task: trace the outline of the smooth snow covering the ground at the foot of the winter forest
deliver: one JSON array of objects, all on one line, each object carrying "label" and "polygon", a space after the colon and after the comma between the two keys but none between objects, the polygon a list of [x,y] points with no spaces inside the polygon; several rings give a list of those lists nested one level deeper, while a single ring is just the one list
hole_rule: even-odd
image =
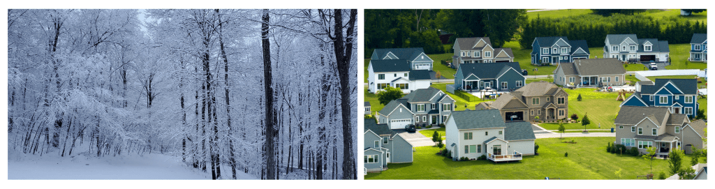
[{"label": "smooth snow covering the ground at the foot of the winter forest", "polygon": [[[210,170],[204,173],[187,166],[174,156],[157,153],[97,158],[86,155],[59,157],[54,152],[40,156],[8,150],[7,169],[8,179],[211,179]],[[231,177],[230,169],[222,170],[225,178]],[[240,172],[239,179],[256,178]]]}]

